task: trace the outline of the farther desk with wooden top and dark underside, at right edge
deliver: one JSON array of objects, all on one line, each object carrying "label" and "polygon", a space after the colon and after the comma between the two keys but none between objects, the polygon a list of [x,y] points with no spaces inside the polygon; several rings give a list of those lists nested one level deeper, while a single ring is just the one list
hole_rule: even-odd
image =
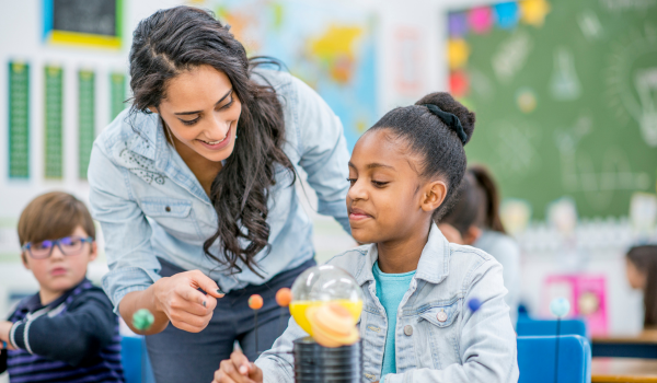
[{"label": "farther desk with wooden top and dark underside, at right edge", "polygon": [[657,359],[657,330],[644,330],[635,336],[593,337],[591,356],[613,358]]}]

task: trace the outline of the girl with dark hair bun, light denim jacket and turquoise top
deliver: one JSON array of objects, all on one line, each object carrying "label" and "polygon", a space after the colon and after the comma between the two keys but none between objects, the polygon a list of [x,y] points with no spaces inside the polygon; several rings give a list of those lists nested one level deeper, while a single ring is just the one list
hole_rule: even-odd
[{"label": "girl with dark hair bun, light denim jacket and turquoise top", "polygon": [[[474,114],[447,93],[388,113],[356,143],[347,209],[356,241],[328,263],[349,271],[365,302],[359,330],[369,382],[516,382],[516,334],[502,266],[450,244],[440,219],[465,173]],[[468,302],[479,299],[476,312]],[[270,352],[221,362],[215,382],[293,382],[295,323]]]}]

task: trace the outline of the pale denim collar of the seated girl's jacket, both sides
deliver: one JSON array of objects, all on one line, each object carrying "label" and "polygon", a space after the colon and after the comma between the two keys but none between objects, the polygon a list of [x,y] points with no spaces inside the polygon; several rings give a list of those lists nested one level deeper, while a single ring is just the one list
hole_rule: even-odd
[{"label": "pale denim collar of the seated girl's jacket, both sides", "polygon": [[[427,244],[422,251],[415,278],[430,283],[440,283],[449,274],[449,242],[445,239],[436,223],[431,223]],[[371,244],[364,257],[364,265],[356,278],[359,286],[373,281],[372,266],[379,258],[377,244]]]}]

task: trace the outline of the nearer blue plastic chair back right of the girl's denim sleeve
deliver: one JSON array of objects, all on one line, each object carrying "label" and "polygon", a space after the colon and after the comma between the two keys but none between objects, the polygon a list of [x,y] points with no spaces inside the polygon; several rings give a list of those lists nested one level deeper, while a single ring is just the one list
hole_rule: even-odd
[{"label": "nearer blue plastic chair back right of the girl's denim sleeve", "polygon": [[[554,383],[555,336],[518,337],[518,383]],[[579,335],[558,337],[557,383],[590,383],[591,347]]]}]

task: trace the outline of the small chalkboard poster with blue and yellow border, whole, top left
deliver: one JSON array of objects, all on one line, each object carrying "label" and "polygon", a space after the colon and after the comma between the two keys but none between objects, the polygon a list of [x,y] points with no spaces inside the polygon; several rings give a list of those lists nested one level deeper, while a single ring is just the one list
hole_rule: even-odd
[{"label": "small chalkboard poster with blue and yellow border, whole, top left", "polygon": [[43,0],[46,44],[118,49],[124,0]]}]

